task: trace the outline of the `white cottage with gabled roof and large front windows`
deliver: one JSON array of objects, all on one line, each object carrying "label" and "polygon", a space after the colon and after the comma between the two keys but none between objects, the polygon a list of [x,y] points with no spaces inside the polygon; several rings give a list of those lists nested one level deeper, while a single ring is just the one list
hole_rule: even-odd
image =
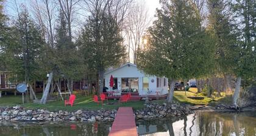
[{"label": "white cottage with gabled roof and large front windows", "polygon": [[[168,79],[146,75],[137,69],[135,64],[127,63],[123,66],[104,73],[104,85],[109,86],[110,77],[113,76],[115,95],[132,92],[138,95],[165,95],[168,94]],[[130,89],[129,89],[130,88]]]}]

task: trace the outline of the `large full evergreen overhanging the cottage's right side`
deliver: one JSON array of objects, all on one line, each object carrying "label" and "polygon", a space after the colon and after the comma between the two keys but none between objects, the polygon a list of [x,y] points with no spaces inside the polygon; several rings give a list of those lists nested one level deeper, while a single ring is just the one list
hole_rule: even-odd
[{"label": "large full evergreen overhanging the cottage's right side", "polygon": [[161,4],[157,20],[148,30],[148,47],[140,53],[138,67],[149,75],[169,78],[171,103],[176,80],[208,73],[212,47],[191,1],[165,0]]}]

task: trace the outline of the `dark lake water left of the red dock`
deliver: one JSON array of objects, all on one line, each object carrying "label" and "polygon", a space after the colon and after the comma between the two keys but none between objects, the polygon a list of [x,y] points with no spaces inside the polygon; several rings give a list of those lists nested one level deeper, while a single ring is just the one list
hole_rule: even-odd
[{"label": "dark lake water left of the red dock", "polygon": [[110,124],[105,123],[0,123],[1,136],[68,136],[107,135]]}]

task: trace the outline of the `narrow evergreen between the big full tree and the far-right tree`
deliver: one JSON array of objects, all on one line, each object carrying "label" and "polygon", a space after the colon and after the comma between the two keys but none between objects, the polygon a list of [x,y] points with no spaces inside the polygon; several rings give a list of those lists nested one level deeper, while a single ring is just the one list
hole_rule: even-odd
[{"label": "narrow evergreen between the big full tree and the far-right tree", "polygon": [[[214,46],[216,46],[215,53],[215,74],[217,76],[232,74],[232,66],[234,65],[233,54],[236,38],[233,33],[231,13],[229,2],[223,0],[208,0],[208,26],[207,32],[212,36]],[[219,84],[217,85],[219,86]],[[227,85],[226,85],[227,86]],[[209,87],[208,87],[209,89]],[[210,97],[210,93],[207,93]],[[218,89],[218,96],[220,90]]]}]

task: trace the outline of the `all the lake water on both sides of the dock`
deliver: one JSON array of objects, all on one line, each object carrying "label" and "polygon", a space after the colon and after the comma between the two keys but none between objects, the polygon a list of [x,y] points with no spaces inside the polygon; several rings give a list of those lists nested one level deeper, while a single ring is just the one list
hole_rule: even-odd
[{"label": "all the lake water on both sides of the dock", "polygon": [[[0,135],[107,135],[111,123],[0,123]],[[256,136],[256,112],[199,112],[185,118],[137,121],[140,135]]]}]

